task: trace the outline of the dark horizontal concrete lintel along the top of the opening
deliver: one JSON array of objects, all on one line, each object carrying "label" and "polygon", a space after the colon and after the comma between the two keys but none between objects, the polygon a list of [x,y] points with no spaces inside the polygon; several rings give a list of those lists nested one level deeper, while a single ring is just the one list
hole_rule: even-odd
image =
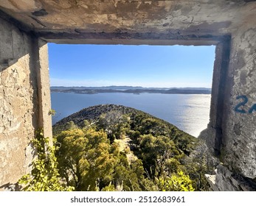
[{"label": "dark horizontal concrete lintel along the top of the opening", "polygon": [[52,43],[86,43],[86,44],[148,44],[148,45],[194,45],[209,46],[219,42],[229,41],[230,35],[193,35],[168,33],[68,33],[68,32],[38,32],[38,37]]}]

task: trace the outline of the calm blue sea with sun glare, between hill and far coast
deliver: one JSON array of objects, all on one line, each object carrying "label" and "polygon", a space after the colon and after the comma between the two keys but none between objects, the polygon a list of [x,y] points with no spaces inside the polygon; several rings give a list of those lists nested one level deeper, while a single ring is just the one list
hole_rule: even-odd
[{"label": "calm blue sea with sun glare, between hill and far coast", "polygon": [[97,104],[121,104],[162,118],[193,136],[207,127],[210,115],[210,94],[162,93],[51,93],[52,122]]}]

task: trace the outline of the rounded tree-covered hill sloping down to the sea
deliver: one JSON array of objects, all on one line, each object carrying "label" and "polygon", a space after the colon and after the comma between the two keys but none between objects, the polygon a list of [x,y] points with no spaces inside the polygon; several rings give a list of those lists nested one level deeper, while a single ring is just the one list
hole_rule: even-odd
[{"label": "rounded tree-covered hill sloping down to the sea", "polygon": [[88,107],[53,126],[58,171],[75,191],[207,191],[204,142],[148,113]]}]

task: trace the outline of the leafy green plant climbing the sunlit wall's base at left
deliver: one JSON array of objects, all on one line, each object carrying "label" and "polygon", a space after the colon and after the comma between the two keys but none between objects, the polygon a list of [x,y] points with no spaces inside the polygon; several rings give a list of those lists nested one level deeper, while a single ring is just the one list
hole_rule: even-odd
[{"label": "leafy green plant climbing the sunlit wall's base at left", "polygon": [[32,141],[37,150],[37,158],[32,163],[31,174],[26,174],[18,181],[22,191],[72,191],[60,179],[55,157],[55,147],[49,146],[49,138],[44,138],[39,131]]}]

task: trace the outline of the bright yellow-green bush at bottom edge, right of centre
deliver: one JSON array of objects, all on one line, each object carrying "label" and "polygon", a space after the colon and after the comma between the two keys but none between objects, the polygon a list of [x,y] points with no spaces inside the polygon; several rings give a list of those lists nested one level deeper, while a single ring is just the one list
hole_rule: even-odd
[{"label": "bright yellow-green bush at bottom edge, right of centre", "polygon": [[172,174],[170,177],[156,180],[160,191],[194,191],[192,181],[183,171],[178,171],[177,174]]}]

